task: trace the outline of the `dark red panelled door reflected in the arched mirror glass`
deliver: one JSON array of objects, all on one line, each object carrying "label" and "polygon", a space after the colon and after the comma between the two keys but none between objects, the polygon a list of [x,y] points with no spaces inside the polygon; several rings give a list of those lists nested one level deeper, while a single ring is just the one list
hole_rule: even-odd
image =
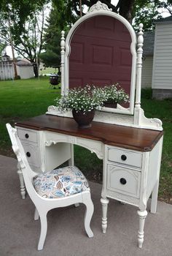
[{"label": "dark red panelled door reflected in the arched mirror glass", "polygon": [[[130,45],[130,32],[114,17],[97,15],[83,21],[71,37],[69,87],[119,83],[130,96]],[[126,102],[120,105],[125,109],[130,106]],[[106,105],[106,108],[114,107]]]}]

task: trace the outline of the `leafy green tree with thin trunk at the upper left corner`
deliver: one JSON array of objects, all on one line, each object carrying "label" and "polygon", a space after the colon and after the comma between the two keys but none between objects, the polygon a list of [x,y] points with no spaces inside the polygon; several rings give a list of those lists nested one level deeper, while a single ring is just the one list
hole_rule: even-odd
[{"label": "leafy green tree with thin trunk at the upper left corner", "polygon": [[[1,40],[13,48],[31,63],[39,62],[37,56],[42,50],[44,29],[44,4],[40,1],[3,1],[0,6]],[[37,64],[34,74],[38,76]]]}]

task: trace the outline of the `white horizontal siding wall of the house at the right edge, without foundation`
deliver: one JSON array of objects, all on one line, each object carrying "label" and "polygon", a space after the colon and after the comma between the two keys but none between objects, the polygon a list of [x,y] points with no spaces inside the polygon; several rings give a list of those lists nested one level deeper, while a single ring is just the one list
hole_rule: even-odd
[{"label": "white horizontal siding wall of the house at the right edge, without foundation", "polygon": [[172,23],[156,25],[152,89],[172,89]]}]

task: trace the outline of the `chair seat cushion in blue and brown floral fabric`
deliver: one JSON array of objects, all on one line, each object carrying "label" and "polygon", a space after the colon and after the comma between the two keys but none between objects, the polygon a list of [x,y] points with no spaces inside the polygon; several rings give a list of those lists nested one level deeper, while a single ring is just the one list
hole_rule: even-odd
[{"label": "chair seat cushion in blue and brown floral fabric", "polygon": [[47,198],[58,198],[90,191],[87,179],[75,166],[62,167],[34,177],[36,192]]}]

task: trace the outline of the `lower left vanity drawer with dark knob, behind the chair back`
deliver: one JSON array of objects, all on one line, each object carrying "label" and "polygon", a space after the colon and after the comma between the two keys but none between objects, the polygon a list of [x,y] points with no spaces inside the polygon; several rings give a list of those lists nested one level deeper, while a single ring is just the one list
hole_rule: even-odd
[{"label": "lower left vanity drawer with dark knob, behind the chair back", "polygon": [[28,143],[22,143],[29,165],[40,167],[39,148]]}]

